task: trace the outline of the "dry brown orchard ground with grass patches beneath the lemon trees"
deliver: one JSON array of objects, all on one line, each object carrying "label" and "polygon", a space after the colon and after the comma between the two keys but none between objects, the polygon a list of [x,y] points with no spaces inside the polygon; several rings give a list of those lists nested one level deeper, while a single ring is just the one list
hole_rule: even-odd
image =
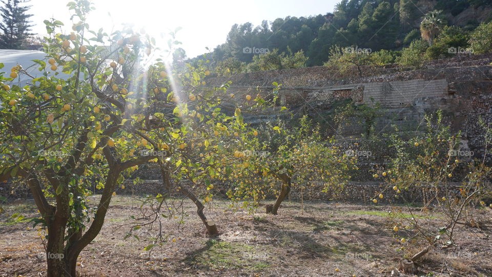
[{"label": "dry brown orchard ground with grass patches beneath the lemon trees", "polygon": [[[92,196],[91,203],[97,200]],[[213,203],[206,214],[217,222],[217,238],[204,234],[193,204],[185,202],[184,224],[179,216],[162,218],[167,243],[149,252],[143,248],[155,229],[140,229],[138,241],[124,240],[129,228],[121,227],[139,214],[140,202],[114,197],[103,230],[81,253],[78,271],[82,276],[389,276],[405,253],[420,247],[400,242],[405,231],[392,230],[386,206],[310,202],[302,211],[300,203],[285,202],[279,215],[267,215],[261,207],[257,213],[224,212],[227,202]],[[28,222],[37,216],[33,202],[4,208],[26,219],[0,215],[0,276],[45,276],[43,244]],[[492,276],[492,210],[477,213],[488,220],[485,229],[460,227],[458,246],[429,252],[418,264],[419,275]]]}]

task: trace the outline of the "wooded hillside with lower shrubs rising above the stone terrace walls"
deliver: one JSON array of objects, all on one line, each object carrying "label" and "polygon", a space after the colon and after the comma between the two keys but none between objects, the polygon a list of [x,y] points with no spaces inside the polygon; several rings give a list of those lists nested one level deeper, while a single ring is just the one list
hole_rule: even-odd
[{"label": "wooded hillside with lower shrubs rising above the stone terrace walls", "polygon": [[[228,75],[323,65],[330,60],[333,46],[372,53],[398,51],[420,39],[420,24],[430,11],[442,11],[443,26],[454,26],[454,33],[466,36],[492,19],[491,5],[490,0],[343,0],[333,13],[287,16],[263,21],[260,26],[235,24],[226,42],[207,54],[207,59],[218,74]],[[457,40],[455,47],[467,46],[467,37]],[[264,53],[261,60],[259,55]],[[400,54],[391,55],[395,60]]]}]

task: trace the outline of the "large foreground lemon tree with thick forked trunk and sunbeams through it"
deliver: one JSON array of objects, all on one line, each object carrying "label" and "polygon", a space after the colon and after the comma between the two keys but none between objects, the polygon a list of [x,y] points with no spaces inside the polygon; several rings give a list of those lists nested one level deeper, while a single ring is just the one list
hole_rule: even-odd
[{"label": "large foreground lemon tree with thick forked trunk and sunbeams through it", "polygon": [[[217,124],[224,137],[247,128],[240,109],[221,102],[227,86],[207,88],[204,65],[182,72],[160,60],[146,66],[154,39],[92,31],[85,22],[92,4],[68,7],[70,33],[45,21],[48,55],[34,61],[42,76],[19,87],[16,78],[30,76],[22,67],[0,73],[0,180],[28,184],[40,213],[35,224],[46,231],[49,276],[76,275],[77,257],[99,234],[115,188],[139,165],[158,163],[170,173],[165,182],[186,176],[207,186],[222,161]],[[93,206],[86,198],[94,180],[102,193]]]}]

